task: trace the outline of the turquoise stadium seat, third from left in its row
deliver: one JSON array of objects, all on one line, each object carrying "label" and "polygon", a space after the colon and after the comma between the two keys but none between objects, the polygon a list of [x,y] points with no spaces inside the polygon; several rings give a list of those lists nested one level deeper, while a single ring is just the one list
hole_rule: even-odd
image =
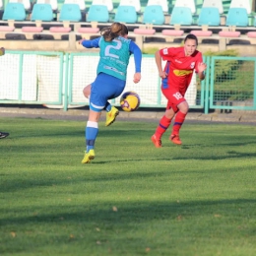
[{"label": "turquoise stadium seat, third from left in its row", "polygon": [[78,4],[63,4],[60,10],[60,22],[80,22],[82,15]]}]

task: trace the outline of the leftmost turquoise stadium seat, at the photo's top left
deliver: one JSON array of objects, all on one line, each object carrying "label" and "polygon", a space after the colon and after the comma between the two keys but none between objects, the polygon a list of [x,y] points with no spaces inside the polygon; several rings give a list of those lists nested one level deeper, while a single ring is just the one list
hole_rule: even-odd
[{"label": "leftmost turquoise stadium seat, at the photo's top left", "polygon": [[3,20],[8,21],[25,21],[26,19],[26,10],[24,4],[21,3],[7,3],[4,14]]}]

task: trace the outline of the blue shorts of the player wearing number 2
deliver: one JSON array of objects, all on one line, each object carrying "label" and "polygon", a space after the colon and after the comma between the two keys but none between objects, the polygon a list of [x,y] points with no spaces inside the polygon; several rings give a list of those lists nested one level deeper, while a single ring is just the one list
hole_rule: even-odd
[{"label": "blue shorts of the player wearing number 2", "polygon": [[107,75],[99,73],[95,82],[92,84],[90,96],[90,109],[100,112],[108,99],[120,96],[125,88],[126,82]]}]

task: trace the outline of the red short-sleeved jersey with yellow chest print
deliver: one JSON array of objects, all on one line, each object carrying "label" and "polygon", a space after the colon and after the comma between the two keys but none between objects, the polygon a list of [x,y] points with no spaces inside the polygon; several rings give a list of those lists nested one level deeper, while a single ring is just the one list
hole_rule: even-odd
[{"label": "red short-sleeved jersey with yellow chest print", "polygon": [[193,71],[198,72],[198,64],[203,62],[202,53],[196,50],[186,56],[184,47],[169,47],[160,49],[160,56],[167,61],[164,67],[167,77],[162,79],[162,89],[171,89],[184,96]]}]

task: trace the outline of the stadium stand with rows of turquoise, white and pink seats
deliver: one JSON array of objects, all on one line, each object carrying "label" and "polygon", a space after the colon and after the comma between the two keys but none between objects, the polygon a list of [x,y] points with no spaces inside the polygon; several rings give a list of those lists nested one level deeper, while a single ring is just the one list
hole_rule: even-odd
[{"label": "stadium stand with rows of turquoise, white and pink seats", "polygon": [[[64,41],[71,40],[70,38],[74,38],[74,35],[91,38],[98,36],[99,31],[112,22],[122,22],[128,26],[129,37],[136,40],[141,47],[148,47],[150,44],[178,43],[188,32],[195,33],[201,44],[210,43],[209,45],[212,46],[211,43],[213,43],[214,47],[219,45],[219,49],[228,47],[230,40],[235,38],[238,40],[237,44],[247,39],[256,46],[256,26],[254,25],[256,19],[253,19],[255,3],[252,0],[37,0],[32,2],[31,10],[28,9],[28,2],[26,8],[23,4],[22,9],[25,9],[25,14],[24,10],[16,12],[17,17],[20,18],[15,19],[13,18],[15,11],[12,12],[11,18],[7,18],[7,10],[10,9],[9,4],[12,1],[19,2],[13,4],[21,4],[21,1],[26,0],[4,2],[0,37],[9,42],[14,39],[29,39],[30,43],[34,40],[35,44],[38,39],[41,41],[47,39],[47,41],[54,40],[47,42],[49,45],[60,45],[62,42],[63,45],[67,45]],[[48,5],[46,14],[41,9],[41,15],[48,15],[48,18],[34,18],[36,8],[42,8],[37,6],[40,3]],[[76,10],[77,19],[63,18],[65,4],[79,6],[79,11]],[[150,6],[152,8],[161,6],[157,19],[154,18],[153,12],[148,15]],[[242,8],[243,11],[241,11]],[[103,12],[102,9],[104,9]],[[40,11],[37,10],[37,12]],[[242,21],[241,16],[243,16]],[[20,34],[19,38],[15,35],[17,33]],[[4,41],[2,40],[5,44]],[[73,48],[68,48],[69,50],[78,49],[76,41],[72,45]]]}]

